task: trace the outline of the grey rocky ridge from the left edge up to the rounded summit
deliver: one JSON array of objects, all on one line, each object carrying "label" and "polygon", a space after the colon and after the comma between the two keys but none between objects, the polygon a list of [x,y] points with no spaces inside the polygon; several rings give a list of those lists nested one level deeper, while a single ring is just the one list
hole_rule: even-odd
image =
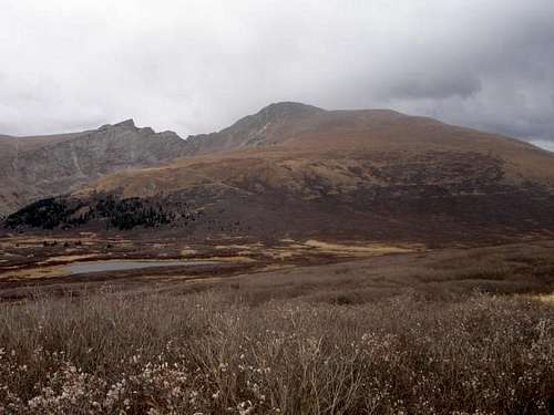
[{"label": "grey rocky ridge from the left edge up to the rounded summit", "polygon": [[[49,136],[0,135],[0,216],[41,198],[73,191],[102,176],[163,165],[179,157],[278,142],[296,122],[322,113],[312,106],[274,104],[213,134],[182,139],[173,132],[138,128],[133,120]],[[270,128],[264,128],[270,125]],[[286,134],[285,134],[286,136]]]}]

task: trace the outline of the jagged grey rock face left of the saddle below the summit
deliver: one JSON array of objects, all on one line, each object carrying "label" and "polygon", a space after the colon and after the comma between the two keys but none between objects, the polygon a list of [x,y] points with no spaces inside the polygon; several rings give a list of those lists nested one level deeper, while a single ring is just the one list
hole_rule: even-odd
[{"label": "jagged grey rock face left of the saddle below the summit", "polygon": [[74,134],[0,136],[0,215],[113,172],[170,162],[186,147],[175,133],[138,128],[132,120]]}]

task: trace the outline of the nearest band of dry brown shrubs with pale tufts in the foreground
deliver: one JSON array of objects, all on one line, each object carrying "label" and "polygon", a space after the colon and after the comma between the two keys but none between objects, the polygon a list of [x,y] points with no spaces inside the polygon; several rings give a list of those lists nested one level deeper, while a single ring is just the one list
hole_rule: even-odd
[{"label": "nearest band of dry brown shrubs with pale tufts in the foreground", "polygon": [[95,292],[0,304],[0,414],[548,414],[551,303]]}]

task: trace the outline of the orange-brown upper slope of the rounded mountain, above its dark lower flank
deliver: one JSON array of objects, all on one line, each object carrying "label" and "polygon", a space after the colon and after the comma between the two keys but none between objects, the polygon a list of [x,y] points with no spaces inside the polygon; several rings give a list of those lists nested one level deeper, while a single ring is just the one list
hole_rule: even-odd
[{"label": "orange-brown upper slope of the rounded mountain, above its dark lower flank", "polygon": [[[230,127],[206,138],[215,142],[220,137],[225,142],[237,137],[230,147],[238,149],[112,175],[82,193],[121,191],[127,197],[141,197],[207,183],[240,189],[257,183],[258,187],[283,193],[321,196],[318,186],[309,184],[311,178],[325,184],[331,194],[348,193],[352,190],[349,186],[359,189],[392,183],[452,187],[493,180],[502,186],[554,186],[554,154],[513,138],[386,110],[301,111],[296,116],[287,114],[285,120],[268,121],[266,111],[279,105],[284,107],[281,113],[290,110],[289,103],[273,104],[257,114],[263,122],[253,122],[253,116],[239,122],[254,124],[252,129]],[[238,133],[246,137],[240,143]],[[257,137],[257,145],[252,137]],[[247,146],[254,148],[240,148]]]}]

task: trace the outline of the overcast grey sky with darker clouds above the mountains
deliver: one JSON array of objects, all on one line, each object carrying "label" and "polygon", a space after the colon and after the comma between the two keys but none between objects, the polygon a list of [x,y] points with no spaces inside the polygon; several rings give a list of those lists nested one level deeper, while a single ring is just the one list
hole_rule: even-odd
[{"label": "overcast grey sky with darker clouds above the mountains", "polygon": [[0,133],[187,136],[278,101],[554,149],[554,1],[0,0]]}]

